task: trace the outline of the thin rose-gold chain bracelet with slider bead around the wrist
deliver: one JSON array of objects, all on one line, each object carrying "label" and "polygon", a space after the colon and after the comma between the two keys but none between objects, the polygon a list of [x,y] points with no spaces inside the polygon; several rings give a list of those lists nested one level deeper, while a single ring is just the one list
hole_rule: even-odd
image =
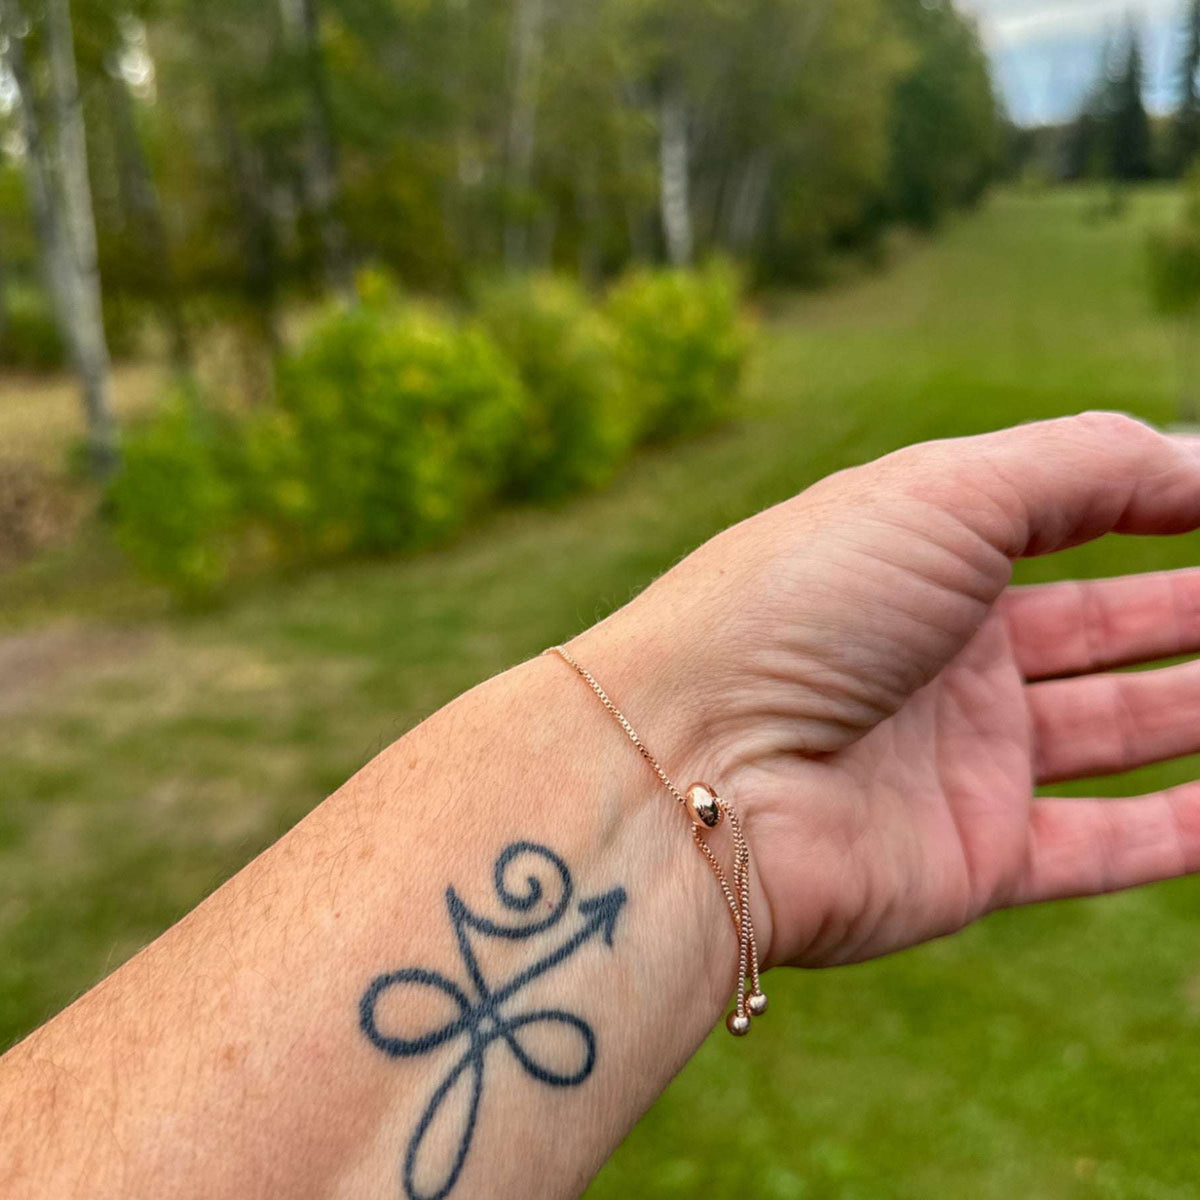
[{"label": "thin rose-gold chain bracelet with slider bead around the wrist", "polygon": [[[750,844],[742,832],[742,820],[728,800],[721,799],[707,784],[692,784],[686,793],[680,792],[662,769],[661,763],[646,748],[637,731],[625,719],[625,714],[608,698],[587,667],[575,661],[565,646],[552,646],[546,654],[557,654],[572,671],[596,694],[613,720],[625,731],[637,752],[650,764],[659,782],[682,805],[691,820],[691,840],[696,850],[704,856],[709,869],[720,884],[730,916],[733,918],[733,931],[738,938],[738,990],[733,1012],[725,1019],[726,1028],[734,1037],[744,1037],[750,1032],[750,1018],[762,1016],[767,1012],[767,996],[758,979],[758,942],[755,940],[754,922],[750,918]],[[733,833],[733,880],[732,886],[725,869],[713,853],[713,847],[704,840],[708,829],[715,829],[728,817]],[[750,994],[746,995],[746,979],[750,980]]]}]

